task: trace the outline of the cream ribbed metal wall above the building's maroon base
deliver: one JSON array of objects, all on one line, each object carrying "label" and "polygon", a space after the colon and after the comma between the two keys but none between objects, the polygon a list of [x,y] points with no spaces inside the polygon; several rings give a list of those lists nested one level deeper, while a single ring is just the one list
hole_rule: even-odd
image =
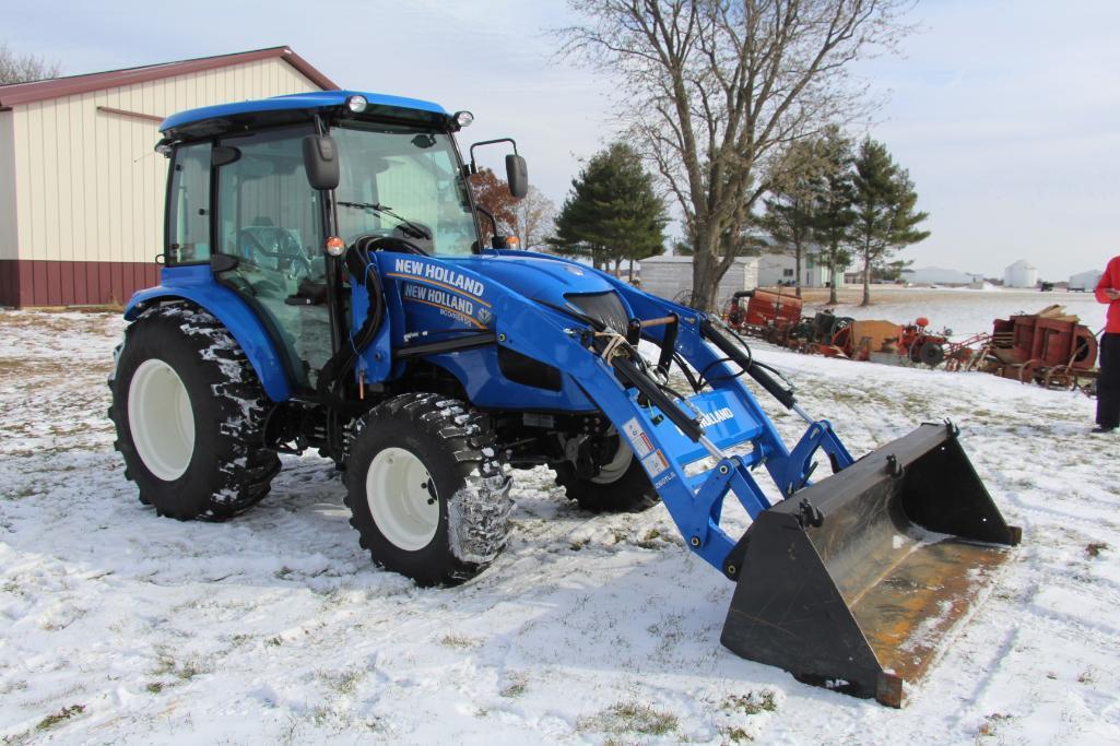
[{"label": "cream ribbed metal wall above the building's maroon base", "polygon": [[[18,259],[150,262],[162,252],[167,159],[159,123],[101,111],[169,114],[319,87],[280,58],[13,106]],[[0,122],[0,142],[3,124]],[[0,147],[0,174],[3,153]],[[0,223],[2,223],[0,215]],[[0,258],[11,231],[0,227]],[[13,241],[13,240],[12,240]]]}]

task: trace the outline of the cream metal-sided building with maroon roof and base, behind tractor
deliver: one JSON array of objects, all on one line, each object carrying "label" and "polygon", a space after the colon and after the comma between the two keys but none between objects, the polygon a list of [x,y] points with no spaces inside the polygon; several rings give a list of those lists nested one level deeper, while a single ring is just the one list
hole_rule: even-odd
[{"label": "cream metal-sided building with maroon roof and base, behind tractor", "polygon": [[123,304],[158,283],[165,116],[337,87],[288,47],[0,86],[0,306]]}]

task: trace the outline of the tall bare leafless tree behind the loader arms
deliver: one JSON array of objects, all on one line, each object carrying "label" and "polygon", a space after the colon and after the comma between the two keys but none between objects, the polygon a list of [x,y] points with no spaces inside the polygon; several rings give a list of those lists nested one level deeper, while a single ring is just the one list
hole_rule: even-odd
[{"label": "tall bare leafless tree behind the loader arms", "polygon": [[784,146],[866,111],[850,63],[909,0],[569,0],[562,50],[622,77],[624,122],[680,204],[710,309]]}]

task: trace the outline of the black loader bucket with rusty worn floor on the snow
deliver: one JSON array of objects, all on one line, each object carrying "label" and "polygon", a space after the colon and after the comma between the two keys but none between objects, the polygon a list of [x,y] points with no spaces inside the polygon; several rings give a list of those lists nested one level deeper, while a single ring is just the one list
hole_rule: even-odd
[{"label": "black loader bucket with rusty worn floor on the snow", "polygon": [[923,425],[760,513],[725,563],[738,582],[721,642],[902,707],[903,682],[923,675],[1020,538],[955,435]]}]

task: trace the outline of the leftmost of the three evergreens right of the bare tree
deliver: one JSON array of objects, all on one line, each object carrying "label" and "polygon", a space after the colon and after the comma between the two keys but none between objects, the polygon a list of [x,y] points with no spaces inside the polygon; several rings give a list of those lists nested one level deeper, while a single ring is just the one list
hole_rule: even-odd
[{"label": "leftmost of the three evergreens right of the bare tree", "polygon": [[778,161],[772,178],[772,196],[765,201],[762,226],[783,253],[794,260],[794,287],[801,297],[801,265],[813,239],[816,199],[821,194],[823,168],[819,144],[799,140]]}]

